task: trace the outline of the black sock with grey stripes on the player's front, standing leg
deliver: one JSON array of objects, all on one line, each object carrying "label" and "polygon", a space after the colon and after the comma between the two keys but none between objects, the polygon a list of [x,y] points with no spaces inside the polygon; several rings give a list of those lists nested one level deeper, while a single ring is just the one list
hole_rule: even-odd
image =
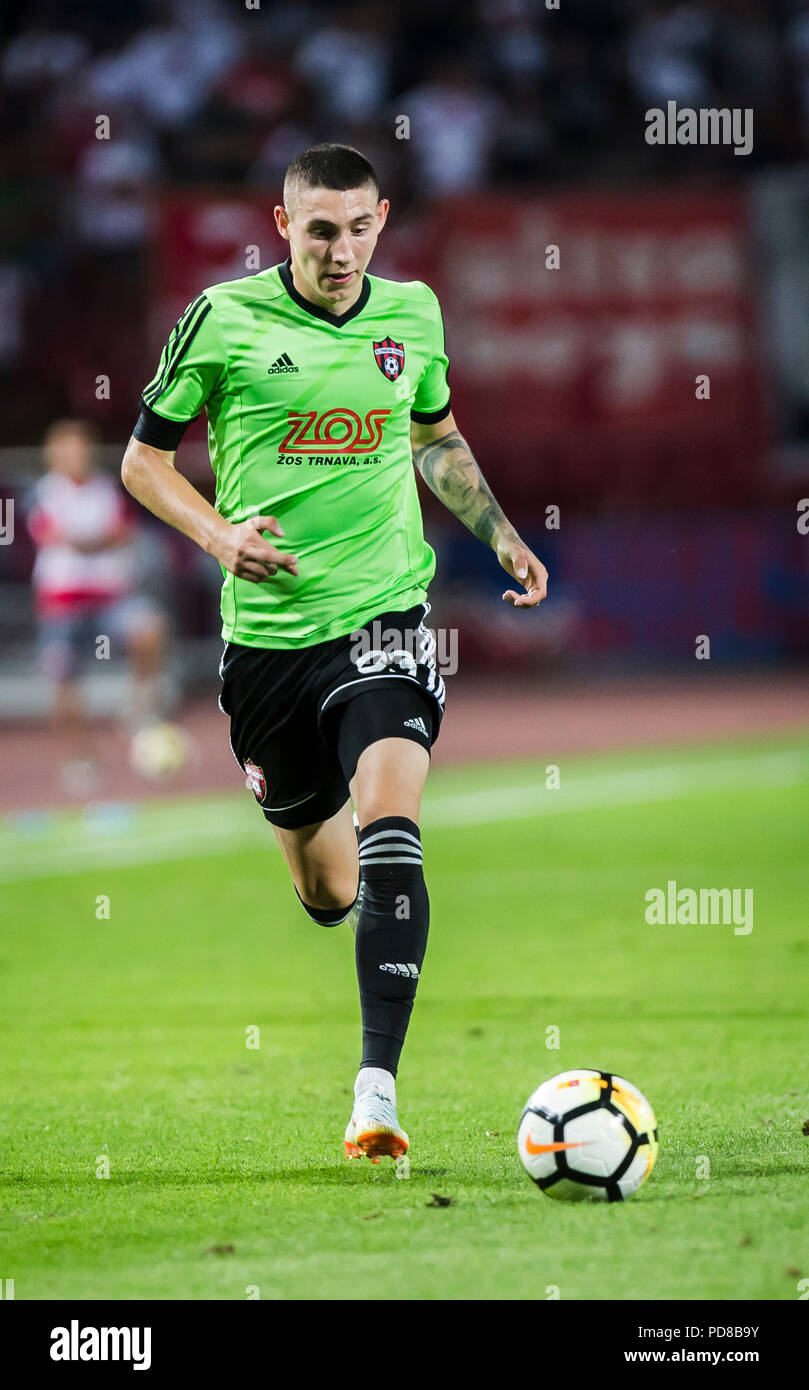
[{"label": "black sock with grey stripes on the player's front, standing leg", "polygon": [[406,816],[382,816],[360,830],[360,874],[361,1066],[396,1076],[430,927],[418,826]]}]

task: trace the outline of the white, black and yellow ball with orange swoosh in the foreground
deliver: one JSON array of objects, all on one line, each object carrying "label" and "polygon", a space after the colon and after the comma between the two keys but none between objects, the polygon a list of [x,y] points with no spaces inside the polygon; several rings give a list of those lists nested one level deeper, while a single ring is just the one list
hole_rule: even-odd
[{"label": "white, black and yellow ball with orange swoosh in the foreground", "polygon": [[657,1122],[637,1086],[612,1072],[560,1072],[525,1102],[517,1148],[548,1197],[621,1202],[657,1158]]}]

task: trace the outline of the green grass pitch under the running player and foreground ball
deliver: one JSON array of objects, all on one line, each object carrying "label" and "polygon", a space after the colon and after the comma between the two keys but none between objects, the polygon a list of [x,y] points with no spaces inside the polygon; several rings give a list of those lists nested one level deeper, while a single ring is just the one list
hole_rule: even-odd
[{"label": "green grass pitch under the running player and foreground ball", "polygon": [[[15,1297],[799,1298],[809,742],[569,759],[560,777],[431,777],[409,1180],[342,1156],[353,941],[302,915],[247,794],[10,819]],[[753,930],[649,926],[644,895],[670,878],[753,888]],[[570,1066],[621,1073],[656,1109],[660,1156],[630,1202],[552,1202],[520,1166],[521,1106]]]}]

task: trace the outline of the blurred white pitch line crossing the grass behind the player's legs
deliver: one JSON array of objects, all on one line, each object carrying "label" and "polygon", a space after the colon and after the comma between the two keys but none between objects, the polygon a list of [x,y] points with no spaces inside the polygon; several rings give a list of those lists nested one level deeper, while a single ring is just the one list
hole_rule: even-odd
[{"label": "blurred white pitch line crossing the grass behind the player's legs", "polygon": [[[803,752],[753,755],[752,758],[695,758],[689,763],[660,764],[566,777],[549,791],[544,781],[516,787],[489,787],[427,798],[423,824],[443,828],[534,820],[573,812],[607,810],[613,806],[677,801],[710,795],[730,788],[788,787],[809,778],[809,758]],[[277,849],[275,837],[261,816],[254,821],[239,815],[228,821],[235,799],[207,802],[183,809],[185,824],[126,834],[103,834],[85,842],[71,838],[36,845],[19,838],[0,855],[0,883],[49,878],[86,873],[93,869],[126,869],[172,859],[222,856],[240,849]],[[239,808],[242,812],[243,808]]]}]

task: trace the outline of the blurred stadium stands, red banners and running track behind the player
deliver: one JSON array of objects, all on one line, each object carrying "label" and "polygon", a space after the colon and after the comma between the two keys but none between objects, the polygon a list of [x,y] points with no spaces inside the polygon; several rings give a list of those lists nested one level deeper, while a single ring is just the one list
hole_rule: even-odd
[{"label": "blurred stadium stands, red banners and running track behind the player", "polygon": [[[318,139],[377,165],[371,271],[441,296],[456,418],[550,571],[538,616],[506,610],[423,489],[432,620],[460,655],[436,762],[809,723],[809,4],[43,0],[3,19],[0,65],[0,810],[86,799],[60,781],[36,648],[46,430],[93,425],[117,478],[185,304],[285,259],[272,206]],[[669,100],[752,108],[752,153],[646,145]],[[178,461],[211,495],[203,424]],[[218,567],[131,517],[199,751],[165,790],[235,788]],[[113,719],[121,652],[82,680],[93,796],[150,792]]]}]

